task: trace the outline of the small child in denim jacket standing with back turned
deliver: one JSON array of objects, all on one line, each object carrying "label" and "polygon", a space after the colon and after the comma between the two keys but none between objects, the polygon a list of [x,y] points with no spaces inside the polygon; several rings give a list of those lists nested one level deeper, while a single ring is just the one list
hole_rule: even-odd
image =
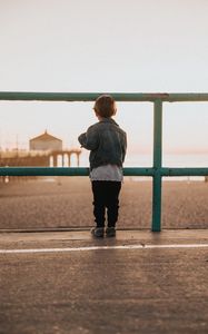
[{"label": "small child in denim jacket standing with back turned", "polygon": [[127,136],[111,118],[117,112],[111,96],[98,97],[93,110],[99,121],[78,138],[81,146],[90,150],[90,179],[96,222],[96,227],[91,232],[95,237],[103,237],[107,208],[106,235],[115,237]]}]

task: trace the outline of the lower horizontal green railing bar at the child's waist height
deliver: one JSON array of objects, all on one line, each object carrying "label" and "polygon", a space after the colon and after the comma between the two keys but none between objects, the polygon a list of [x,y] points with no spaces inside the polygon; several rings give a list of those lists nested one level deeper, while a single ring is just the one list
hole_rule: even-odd
[{"label": "lower horizontal green railing bar at the child's waist height", "polygon": [[[207,176],[208,168],[125,167],[125,176]],[[0,176],[89,176],[88,167],[0,167]]]}]

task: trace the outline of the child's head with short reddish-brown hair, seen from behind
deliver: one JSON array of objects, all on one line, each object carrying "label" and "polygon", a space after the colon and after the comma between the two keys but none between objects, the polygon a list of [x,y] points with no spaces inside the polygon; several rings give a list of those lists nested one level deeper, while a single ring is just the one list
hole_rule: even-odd
[{"label": "child's head with short reddish-brown hair, seen from behind", "polygon": [[109,118],[117,112],[116,102],[110,95],[101,95],[97,98],[93,110],[98,117]]}]

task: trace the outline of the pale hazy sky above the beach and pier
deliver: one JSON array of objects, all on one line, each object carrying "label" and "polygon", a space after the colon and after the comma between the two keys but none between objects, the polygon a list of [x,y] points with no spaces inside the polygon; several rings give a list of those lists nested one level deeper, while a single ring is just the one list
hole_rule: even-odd
[{"label": "pale hazy sky above the beach and pier", "polygon": [[[208,92],[207,0],[0,0],[0,91]],[[152,104],[119,102],[128,153],[152,153]],[[92,102],[0,101],[0,147],[65,147]],[[165,153],[208,153],[208,102],[164,105]]]}]

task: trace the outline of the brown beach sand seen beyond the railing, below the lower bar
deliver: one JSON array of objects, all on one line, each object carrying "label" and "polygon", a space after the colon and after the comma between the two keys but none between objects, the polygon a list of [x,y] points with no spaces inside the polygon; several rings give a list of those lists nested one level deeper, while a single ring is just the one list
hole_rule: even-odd
[{"label": "brown beach sand seen beyond the railing, below the lower bar", "polygon": [[[93,226],[88,177],[0,183],[0,228]],[[151,181],[125,179],[118,228],[151,227]],[[164,181],[164,228],[208,228],[208,184]]]}]

